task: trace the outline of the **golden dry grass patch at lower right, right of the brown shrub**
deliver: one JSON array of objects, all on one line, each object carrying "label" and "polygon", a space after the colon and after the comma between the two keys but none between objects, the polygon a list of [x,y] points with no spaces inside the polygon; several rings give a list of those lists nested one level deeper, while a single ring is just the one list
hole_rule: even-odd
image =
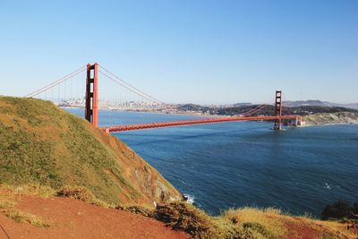
[{"label": "golden dry grass patch at lower right, right of the brown shrub", "polygon": [[[319,238],[357,238],[343,223],[322,221],[308,215],[294,217],[279,209],[229,209],[222,217],[234,224],[243,225],[246,235],[251,231],[253,238],[301,238],[304,233],[317,235]],[[287,225],[291,227],[287,229]]]}]

